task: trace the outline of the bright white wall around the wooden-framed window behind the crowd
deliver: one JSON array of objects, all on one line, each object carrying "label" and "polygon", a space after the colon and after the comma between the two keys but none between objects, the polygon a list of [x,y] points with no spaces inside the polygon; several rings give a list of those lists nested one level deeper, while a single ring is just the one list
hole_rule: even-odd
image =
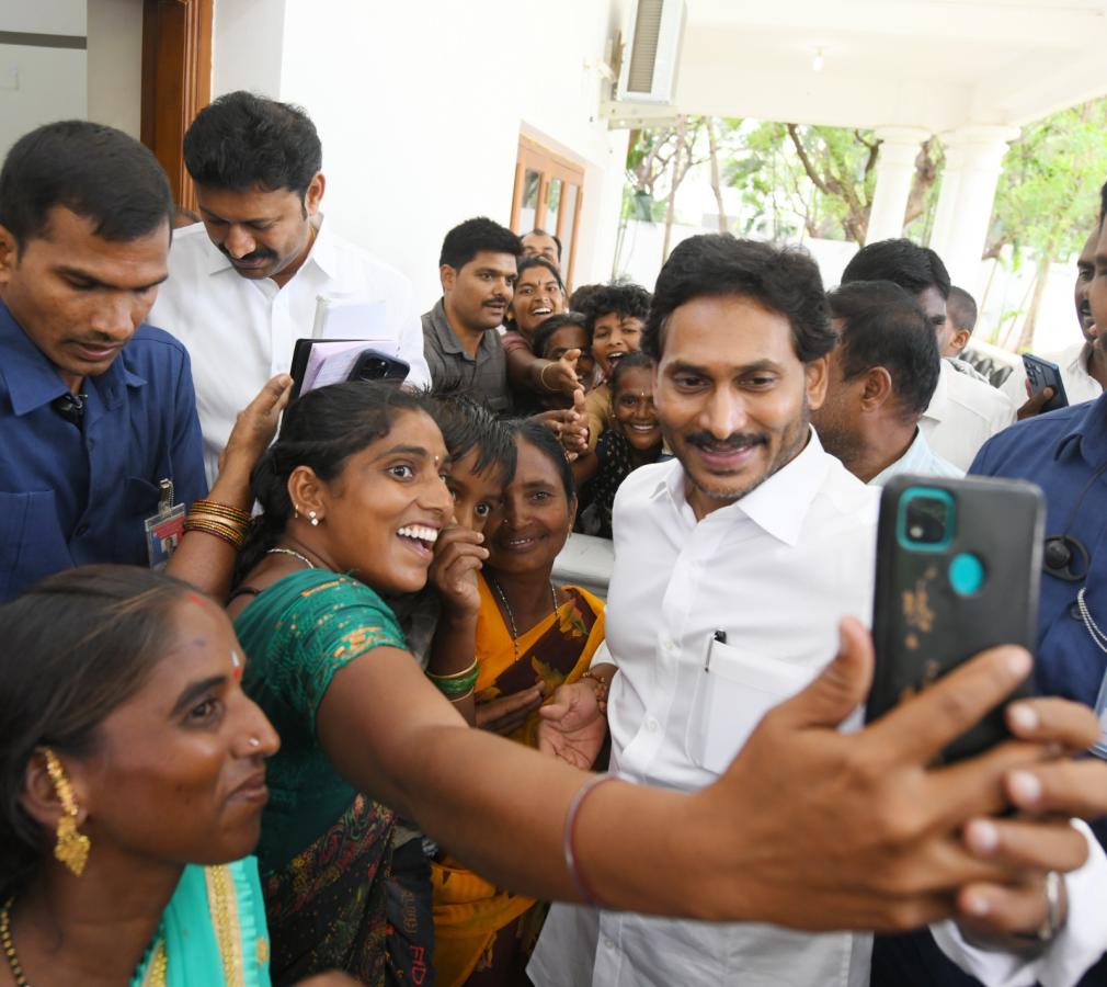
[{"label": "bright white wall around the wooden-framed window behind the crowd", "polygon": [[[600,78],[584,62],[602,58],[617,7],[219,0],[214,91],[255,89],[308,110],[323,141],[328,222],[404,270],[427,308],[446,230],[482,214],[508,222],[520,131],[583,163],[576,281],[606,279],[627,134],[599,120]],[[259,39],[280,21],[273,71]]]}]

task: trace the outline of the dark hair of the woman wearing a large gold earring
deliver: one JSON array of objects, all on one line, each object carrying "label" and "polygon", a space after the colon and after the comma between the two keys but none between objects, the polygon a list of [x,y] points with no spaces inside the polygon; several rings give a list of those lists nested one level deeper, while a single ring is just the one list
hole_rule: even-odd
[{"label": "dark hair of the woman wearing a large gold earring", "polygon": [[[68,569],[0,606],[0,899],[33,877],[50,841],[20,804],[42,747],[93,754],[97,728],[149,678],[190,586],[138,566]],[[95,847],[93,847],[95,853]]]}]

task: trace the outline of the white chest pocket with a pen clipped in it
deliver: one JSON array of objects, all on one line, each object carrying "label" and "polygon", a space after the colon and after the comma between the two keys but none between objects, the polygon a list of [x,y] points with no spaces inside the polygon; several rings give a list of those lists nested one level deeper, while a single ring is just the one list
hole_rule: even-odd
[{"label": "white chest pocket with a pen clipped in it", "polygon": [[696,677],[686,747],[695,764],[722,774],[774,706],[795,696],[815,670],[713,640]]}]

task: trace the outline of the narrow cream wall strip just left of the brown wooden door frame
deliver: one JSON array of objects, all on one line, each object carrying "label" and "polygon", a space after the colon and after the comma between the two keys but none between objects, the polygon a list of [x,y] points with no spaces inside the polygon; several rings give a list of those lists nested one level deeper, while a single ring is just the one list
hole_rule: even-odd
[{"label": "narrow cream wall strip just left of the brown wooden door frame", "polygon": [[142,0],[89,0],[89,120],[142,132]]}]

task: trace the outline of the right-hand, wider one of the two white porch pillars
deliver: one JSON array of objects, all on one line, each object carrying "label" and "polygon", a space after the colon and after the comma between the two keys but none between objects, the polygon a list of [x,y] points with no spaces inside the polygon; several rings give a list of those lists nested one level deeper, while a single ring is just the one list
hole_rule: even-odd
[{"label": "right-hand, wider one of the two white porch pillars", "polygon": [[[945,168],[930,246],[945,261],[954,285],[977,296],[995,186],[1007,144],[1020,134],[1013,126],[963,126],[942,134]],[[946,183],[949,187],[946,187]]]}]

